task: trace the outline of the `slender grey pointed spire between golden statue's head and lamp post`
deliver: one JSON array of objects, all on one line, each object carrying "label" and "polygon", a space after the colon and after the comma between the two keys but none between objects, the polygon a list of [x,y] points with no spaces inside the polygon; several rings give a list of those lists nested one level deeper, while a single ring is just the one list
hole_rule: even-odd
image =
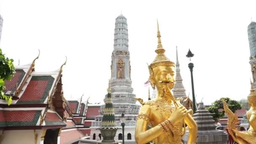
[{"label": "slender grey pointed spire between golden statue's head and lamp post", "polygon": [[181,78],[181,73],[180,73],[180,68],[179,68],[179,59],[178,59],[178,50],[176,46],[176,83],[173,88],[173,96],[175,98],[180,98],[183,96],[186,96],[186,90],[182,84],[182,78]]}]

